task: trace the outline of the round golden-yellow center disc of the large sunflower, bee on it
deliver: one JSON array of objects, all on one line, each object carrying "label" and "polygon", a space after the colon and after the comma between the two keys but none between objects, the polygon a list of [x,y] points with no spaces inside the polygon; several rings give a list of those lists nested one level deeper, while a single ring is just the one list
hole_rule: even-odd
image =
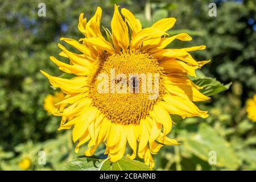
[{"label": "round golden-yellow center disc of the large sunflower, bee on it", "polygon": [[163,68],[141,51],[99,57],[90,78],[92,104],[110,121],[139,123],[164,94]]}]

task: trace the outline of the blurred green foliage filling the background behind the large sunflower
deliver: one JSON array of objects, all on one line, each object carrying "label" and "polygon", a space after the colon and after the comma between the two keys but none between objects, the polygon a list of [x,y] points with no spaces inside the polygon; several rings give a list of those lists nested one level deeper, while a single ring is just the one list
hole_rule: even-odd
[{"label": "blurred green foliage filling the background behind the large sunflower", "polygon": [[[38,4],[46,3],[46,17],[38,16]],[[217,16],[208,15],[207,0],[170,1],[0,1],[0,169],[20,170],[23,158],[31,159],[29,169],[64,169],[74,154],[71,132],[57,131],[60,118],[43,109],[43,99],[53,93],[40,69],[60,75],[49,56],[60,52],[59,38],[81,38],[77,30],[80,13],[90,18],[97,6],[104,16],[102,25],[110,29],[113,5],[131,10],[143,27],[173,16],[175,27],[168,33],[187,32],[192,42],[176,41],[170,47],[206,45],[193,55],[212,61],[199,76],[215,77],[231,89],[202,103],[207,119],[175,118],[170,137],[179,146],[164,146],[155,155],[155,168],[166,170],[256,169],[255,123],[246,118],[248,97],[256,93],[256,3],[253,0],[214,1]],[[102,147],[101,147],[102,148]],[[102,156],[102,149],[98,154]],[[39,164],[39,151],[46,152],[46,164]],[[216,164],[210,165],[209,152]]]}]

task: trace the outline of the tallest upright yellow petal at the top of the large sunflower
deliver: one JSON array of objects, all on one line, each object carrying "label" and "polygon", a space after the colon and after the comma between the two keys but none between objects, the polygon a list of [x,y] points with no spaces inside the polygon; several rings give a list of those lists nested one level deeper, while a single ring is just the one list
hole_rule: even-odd
[{"label": "tallest upright yellow petal at the top of the large sunflower", "polygon": [[123,22],[117,5],[114,7],[114,15],[111,21],[111,28],[114,48],[117,50],[117,52],[120,52],[121,49],[126,51],[129,46],[128,27],[126,23]]}]

